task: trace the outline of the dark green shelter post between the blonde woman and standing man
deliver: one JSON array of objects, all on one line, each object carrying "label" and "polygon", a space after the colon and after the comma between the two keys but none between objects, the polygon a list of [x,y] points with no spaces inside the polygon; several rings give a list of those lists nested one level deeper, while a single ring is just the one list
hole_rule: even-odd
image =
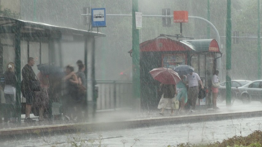
[{"label": "dark green shelter post between the blonde woman and standing man", "polygon": [[17,78],[17,84],[16,84],[16,93],[15,93],[15,99],[16,99],[16,114],[18,118],[18,122],[21,122],[21,24],[16,23],[16,30],[15,30],[15,75]]}]

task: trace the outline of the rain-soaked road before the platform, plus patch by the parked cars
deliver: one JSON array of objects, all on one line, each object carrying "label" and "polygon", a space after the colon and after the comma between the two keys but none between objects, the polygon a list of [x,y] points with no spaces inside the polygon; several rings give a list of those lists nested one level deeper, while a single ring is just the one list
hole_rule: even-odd
[{"label": "rain-soaked road before the platform, plus patch by the parked cars", "polygon": [[[225,102],[218,104],[219,111],[261,110],[260,102],[243,105],[234,102],[233,110],[225,107]],[[82,146],[107,146],[107,147],[167,147],[180,143],[207,144],[222,141],[235,135],[247,136],[255,130],[261,130],[261,117],[228,119],[220,121],[193,122],[172,124],[164,126],[151,126],[135,129],[122,129],[99,131],[92,133],[70,133],[60,135],[27,136],[22,138],[9,138],[0,141],[2,146],[71,146],[72,143]],[[0,139],[1,140],[1,139]],[[137,140],[135,142],[135,140]],[[135,143],[135,144],[134,144]],[[134,144],[134,145],[133,145]]]}]

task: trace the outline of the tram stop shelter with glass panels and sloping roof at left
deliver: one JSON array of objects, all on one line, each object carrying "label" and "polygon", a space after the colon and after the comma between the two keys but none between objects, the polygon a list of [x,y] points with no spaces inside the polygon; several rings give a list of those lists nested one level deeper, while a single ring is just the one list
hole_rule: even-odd
[{"label": "tram stop shelter with glass panels and sloping roof at left", "polygon": [[[0,17],[0,76],[6,71],[6,64],[15,65],[16,106],[18,122],[21,121],[21,70],[27,64],[29,57],[33,57],[37,64],[48,64],[63,68],[68,63],[75,64],[83,59],[85,64],[87,91],[95,101],[95,38],[105,37],[105,34],[81,29],[73,29],[49,25],[40,22],[24,21],[8,17]],[[75,57],[72,56],[74,53]],[[88,66],[87,66],[88,65]],[[32,67],[37,74],[37,66]],[[88,69],[88,72],[87,72]],[[76,71],[76,70],[75,70]],[[2,83],[4,80],[1,80]],[[50,89],[52,89],[50,85]],[[0,92],[3,100],[3,91]],[[57,95],[50,91],[51,102],[56,102]],[[59,98],[58,98],[59,99]],[[59,102],[58,102],[59,103]],[[5,109],[1,102],[0,110]],[[54,114],[54,112],[53,112]],[[2,118],[2,117],[1,117]]]}]

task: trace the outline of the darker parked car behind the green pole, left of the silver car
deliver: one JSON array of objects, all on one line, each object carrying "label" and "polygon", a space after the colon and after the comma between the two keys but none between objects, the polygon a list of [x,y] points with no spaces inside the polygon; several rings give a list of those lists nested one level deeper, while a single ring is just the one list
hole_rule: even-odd
[{"label": "darker parked car behind the green pole, left of the silver car", "polygon": [[[231,99],[237,99],[237,88],[244,86],[245,84],[249,83],[249,80],[231,80]],[[218,95],[217,95],[217,102],[223,102],[226,99],[226,82],[223,82],[218,87]]]}]

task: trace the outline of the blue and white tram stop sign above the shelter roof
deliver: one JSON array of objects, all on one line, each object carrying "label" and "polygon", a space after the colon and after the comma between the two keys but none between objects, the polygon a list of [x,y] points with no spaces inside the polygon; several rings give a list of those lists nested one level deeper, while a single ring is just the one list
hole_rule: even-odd
[{"label": "blue and white tram stop sign above the shelter roof", "polygon": [[105,25],[105,8],[95,8],[91,10],[92,28],[106,27]]}]

